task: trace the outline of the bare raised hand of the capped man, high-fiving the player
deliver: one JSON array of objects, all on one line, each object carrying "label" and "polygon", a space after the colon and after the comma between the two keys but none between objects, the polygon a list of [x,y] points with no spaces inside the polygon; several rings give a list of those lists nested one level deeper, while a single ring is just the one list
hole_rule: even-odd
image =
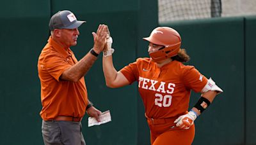
[{"label": "bare raised hand of the capped man, high-fiving the player", "polygon": [[104,49],[104,45],[106,43],[106,38],[108,36],[108,26],[100,24],[97,33],[92,32],[92,34],[94,40],[93,50],[99,54]]}]

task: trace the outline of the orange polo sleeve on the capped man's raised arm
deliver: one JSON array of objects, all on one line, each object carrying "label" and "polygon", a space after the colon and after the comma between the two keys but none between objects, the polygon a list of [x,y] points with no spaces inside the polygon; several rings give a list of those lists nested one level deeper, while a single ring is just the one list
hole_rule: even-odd
[{"label": "orange polo sleeve on the capped man's raised arm", "polygon": [[45,56],[44,66],[46,71],[57,81],[60,81],[61,74],[71,67],[65,58],[60,55],[54,55],[54,53]]}]

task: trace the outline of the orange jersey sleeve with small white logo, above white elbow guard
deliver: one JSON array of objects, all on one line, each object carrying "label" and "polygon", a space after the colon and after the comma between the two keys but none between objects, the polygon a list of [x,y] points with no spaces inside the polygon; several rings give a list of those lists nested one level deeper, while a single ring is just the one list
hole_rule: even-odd
[{"label": "orange jersey sleeve with small white logo, above white elbow guard", "polygon": [[195,92],[201,92],[206,85],[207,80],[208,79],[193,66],[187,66],[184,70],[184,84],[187,88],[192,89]]}]

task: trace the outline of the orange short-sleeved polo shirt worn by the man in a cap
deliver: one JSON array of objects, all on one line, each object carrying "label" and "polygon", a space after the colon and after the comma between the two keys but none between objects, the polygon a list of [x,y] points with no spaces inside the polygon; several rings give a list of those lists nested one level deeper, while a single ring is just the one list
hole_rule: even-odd
[{"label": "orange short-sleeved polo shirt worn by the man in a cap", "polygon": [[76,83],[60,80],[61,74],[76,63],[70,48],[64,50],[50,36],[38,59],[43,120],[56,116],[84,116],[88,104],[84,77]]}]

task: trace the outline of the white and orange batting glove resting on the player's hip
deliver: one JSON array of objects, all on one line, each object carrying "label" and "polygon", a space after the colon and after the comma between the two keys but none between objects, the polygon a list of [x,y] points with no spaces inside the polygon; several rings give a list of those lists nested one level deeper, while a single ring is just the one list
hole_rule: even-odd
[{"label": "white and orange batting glove resting on the player's hip", "polygon": [[196,120],[197,115],[194,111],[189,111],[188,114],[184,114],[182,116],[179,116],[174,123],[176,123],[176,126],[182,129],[188,129],[191,127],[191,125],[194,124],[194,121]]}]

